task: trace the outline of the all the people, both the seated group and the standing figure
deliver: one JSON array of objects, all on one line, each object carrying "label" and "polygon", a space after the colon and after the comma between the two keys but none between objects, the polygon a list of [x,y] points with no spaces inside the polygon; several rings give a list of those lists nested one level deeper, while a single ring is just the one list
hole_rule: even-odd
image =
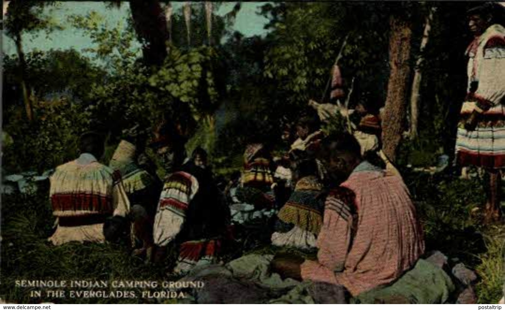
[{"label": "all the people, both the seated group and the standing figure", "polygon": [[[493,24],[491,13],[486,6],[470,12],[476,39],[467,51],[469,92],[457,160],[489,168],[488,204],[499,214],[505,29]],[[184,273],[219,261],[233,239],[230,227],[237,225],[230,208],[240,203],[273,210],[272,245],[317,251],[316,260],[276,255],[270,268],[282,278],[329,283],[353,296],[394,282],[413,268],[425,247],[409,191],[381,151],[380,113],[366,104],[355,110],[309,105],[314,115],[298,119],[290,150],[274,160],[263,143],[249,143],[240,178],[225,191],[201,148],[186,158],[184,142],[158,132],[149,146],[166,163],[162,181],[144,154],[145,136],[127,134],[105,165],[98,162],[103,136],[82,135],[79,158],[59,166],[51,177],[57,225],[49,239],[59,245],[130,236],[135,255],[168,262],[174,272]],[[351,122],[351,133],[325,135],[320,123],[328,112]]]}]

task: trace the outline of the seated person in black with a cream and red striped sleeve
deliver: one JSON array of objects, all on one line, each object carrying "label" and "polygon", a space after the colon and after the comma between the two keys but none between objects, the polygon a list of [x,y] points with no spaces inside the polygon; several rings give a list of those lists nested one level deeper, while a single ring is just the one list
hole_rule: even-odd
[{"label": "seated person in black with a cream and red striped sleeve", "polygon": [[157,260],[174,246],[176,273],[215,262],[229,218],[211,172],[188,161],[166,179],[161,193],[154,223]]}]

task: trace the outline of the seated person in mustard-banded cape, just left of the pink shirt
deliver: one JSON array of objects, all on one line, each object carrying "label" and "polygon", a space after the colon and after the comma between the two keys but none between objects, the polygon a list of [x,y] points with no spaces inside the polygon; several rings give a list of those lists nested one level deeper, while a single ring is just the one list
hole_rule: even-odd
[{"label": "seated person in mustard-banded cape, just left of the pink shirt", "polygon": [[316,247],[316,237],[323,224],[324,207],[319,202],[323,185],[318,177],[318,166],[306,152],[291,153],[294,171],[294,192],[277,214],[276,232],[272,244],[292,246],[302,250]]}]

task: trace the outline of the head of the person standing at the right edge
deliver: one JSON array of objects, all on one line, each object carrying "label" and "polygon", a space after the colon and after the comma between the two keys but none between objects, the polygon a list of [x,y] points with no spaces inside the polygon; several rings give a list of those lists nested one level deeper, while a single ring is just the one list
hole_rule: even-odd
[{"label": "head of the person standing at the right edge", "polygon": [[474,36],[479,36],[492,24],[499,23],[497,16],[503,8],[496,3],[485,3],[467,11],[468,27]]}]

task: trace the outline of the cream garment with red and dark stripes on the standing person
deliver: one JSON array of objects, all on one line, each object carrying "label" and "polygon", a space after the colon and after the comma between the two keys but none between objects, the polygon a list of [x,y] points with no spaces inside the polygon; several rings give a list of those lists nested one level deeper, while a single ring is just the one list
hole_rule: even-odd
[{"label": "cream garment with red and dark stripes on the standing person", "polygon": [[[490,26],[467,49],[468,94],[461,109],[456,160],[462,166],[505,167],[505,28]],[[474,131],[464,128],[472,111],[480,113]]]}]

